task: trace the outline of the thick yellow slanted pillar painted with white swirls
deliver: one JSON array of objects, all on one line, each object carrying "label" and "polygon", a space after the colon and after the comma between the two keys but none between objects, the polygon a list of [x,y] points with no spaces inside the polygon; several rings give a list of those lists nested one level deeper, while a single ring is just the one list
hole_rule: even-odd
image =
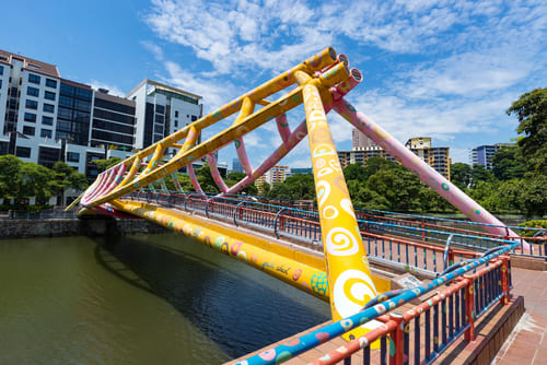
[{"label": "thick yellow slanted pillar painted with white swirls", "polygon": [[[305,72],[296,72],[304,84],[302,92],[312,153],[313,175],[317,195],[322,239],[327,261],[328,292],[333,320],[354,315],[377,295],[369,269],[369,260],[353,212],[346,180],[338,161],[319,95],[321,81]],[[315,291],[312,282],[312,290]],[[321,283],[317,283],[321,285]],[[357,328],[347,338],[359,337]]]}]

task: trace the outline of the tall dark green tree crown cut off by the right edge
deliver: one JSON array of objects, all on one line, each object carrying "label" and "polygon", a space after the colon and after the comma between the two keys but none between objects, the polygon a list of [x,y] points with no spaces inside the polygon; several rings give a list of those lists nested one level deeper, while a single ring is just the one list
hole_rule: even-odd
[{"label": "tall dark green tree crown cut off by the right edge", "polygon": [[507,110],[519,118],[517,140],[529,172],[547,174],[547,87],[521,95]]}]

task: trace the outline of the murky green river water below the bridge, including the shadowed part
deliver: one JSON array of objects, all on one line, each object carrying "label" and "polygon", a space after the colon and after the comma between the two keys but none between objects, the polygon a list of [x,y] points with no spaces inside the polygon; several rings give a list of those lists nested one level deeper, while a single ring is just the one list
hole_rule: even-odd
[{"label": "murky green river water below the bridge, including the shadowed part", "polygon": [[0,364],[219,364],[328,318],[181,235],[0,240]]}]

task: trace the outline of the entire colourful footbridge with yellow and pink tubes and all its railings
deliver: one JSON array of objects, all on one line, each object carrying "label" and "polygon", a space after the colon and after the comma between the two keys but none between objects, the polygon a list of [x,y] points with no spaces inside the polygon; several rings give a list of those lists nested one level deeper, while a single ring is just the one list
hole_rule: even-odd
[{"label": "entire colourful footbridge with yellow and pink tubes and all its railings", "polygon": [[[345,55],[337,55],[333,48],[324,49],[100,174],[69,207],[80,204],[82,213],[91,210],[153,221],[330,304],[331,325],[248,357],[244,364],[281,363],[338,335],[349,341],[342,356],[356,346],[380,346],[385,352],[382,343],[386,343],[387,335],[388,353],[395,363],[410,358],[407,351],[410,343],[424,344],[424,351],[415,353],[414,358],[430,363],[464,333],[466,340],[473,339],[475,318],[493,303],[509,303],[508,254],[535,256],[540,260],[545,257],[542,240],[522,239],[515,229],[503,225],[380,125],[359,113],[346,96],[362,81],[362,74],[349,64]],[[301,104],[306,118],[291,128],[288,115]],[[426,185],[479,223],[485,232],[353,209],[326,118],[330,110],[370,137]],[[219,126],[220,121],[223,126],[228,121],[229,127],[201,142],[202,132]],[[281,144],[268,151],[270,155],[254,167],[244,139],[267,123],[275,123]],[[300,209],[233,198],[305,137],[311,151],[316,205]],[[220,176],[214,157],[218,150],[229,145],[235,148],[245,172],[245,177],[232,187]],[[221,191],[219,196],[207,196],[196,178],[193,162],[202,158],[208,161]],[[195,195],[181,189],[176,173],[183,167],[188,172]],[[167,191],[165,179],[173,179],[178,191]],[[154,192],[154,185],[160,185],[163,193]],[[394,292],[385,279],[371,271],[371,264],[381,268],[376,272],[410,272],[426,281]],[[434,290],[442,291],[442,295],[422,303],[421,311],[385,317],[389,310]],[[452,309],[446,309],[449,307]],[[431,311],[437,315],[433,315],[433,325],[428,326],[430,316],[422,315]],[[422,318],[423,332],[419,325]],[[415,342],[409,342],[405,329],[412,321],[417,323]],[[428,344],[430,340],[432,345]],[[335,357],[329,354],[321,362],[331,363]]]}]

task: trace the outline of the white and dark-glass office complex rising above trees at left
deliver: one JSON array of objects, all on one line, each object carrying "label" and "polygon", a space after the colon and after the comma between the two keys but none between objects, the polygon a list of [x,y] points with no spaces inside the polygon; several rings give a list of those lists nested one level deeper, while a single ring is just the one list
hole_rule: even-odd
[{"label": "white and dark-glass office complex rising above trees at left", "polygon": [[63,161],[94,179],[94,160],[125,158],[184,128],[201,117],[200,99],[148,79],[118,97],[0,50],[0,154],[48,167]]}]

